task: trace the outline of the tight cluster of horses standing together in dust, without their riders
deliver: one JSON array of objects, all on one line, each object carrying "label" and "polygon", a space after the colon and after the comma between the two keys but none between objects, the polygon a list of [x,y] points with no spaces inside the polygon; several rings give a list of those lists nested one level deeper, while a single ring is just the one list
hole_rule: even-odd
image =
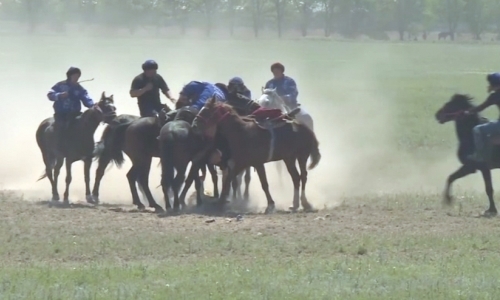
[{"label": "tight cluster of horses standing together in dust, without their riders", "polygon": [[[214,184],[214,196],[221,207],[227,203],[231,188],[233,199],[248,199],[250,169],[253,167],[266,195],[266,213],[270,213],[274,211],[275,203],[264,165],[283,161],[294,186],[290,209],[296,211],[301,204],[304,210],[312,210],[305,192],[307,176],[308,170],[319,163],[321,155],[311,116],[301,106],[293,110],[287,107],[275,89],[262,89],[262,95],[254,101],[238,93],[230,93],[224,84],[217,85],[227,93],[224,103],[210,99],[200,111],[196,111],[190,107],[189,101],[178,101],[175,110],[164,105],[158,116],[144,118],[117,115],[113,95],[106,96],[103,92],[96,105],[78,116],[68,128],[69,140],[64,149],[56,146],[54,119],[43,120],[36,132],[45,164],[45,172],[39,180],[48,178],[52,200],[59,201],[57,182],[65,162],[63,202],[69,204],[71,165],[83,160],[86,200],[98,204],[100,184],[107,166],[110,163],[122,166],[125,153],[132,162],[127,179],[133,204],[139,209],[145,208],[139,198],[139,188],[149,207],[156,212],[164,212],[149,188],[152,158],[157,157],[161,163],[165,207],[167,211],[177,212],[186,207],[186,193],[193,182],[197,205],[202,204],[202,184],[207,169]],[[100,123],[107,126],[101,140],[95,143],[94,133]],[[98,167],[91,191],[90,167],[94,160],[98,161]],[[186,177],[189,164],[191,168]],[[224,172],[220,193],[216,166]],[[243,175],[245,191],[242,194]],[[170,195],[173,196],[173,205]]]}]

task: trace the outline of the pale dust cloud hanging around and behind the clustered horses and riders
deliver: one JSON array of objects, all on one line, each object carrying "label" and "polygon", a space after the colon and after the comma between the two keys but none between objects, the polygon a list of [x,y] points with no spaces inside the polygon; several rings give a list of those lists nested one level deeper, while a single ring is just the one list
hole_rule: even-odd
[{"label": "pale dust cloud hanging around and behind the clustered horses and riders", "polygon": [[[262,43],[262,52],[255,53],[257,47],[252,43]],[[331,70],[311,70],[306,56],[267,49],[264,43],[239,41],[238,45],[243,45],[241,49],[228,51],[235,47],[228,41],[217,44],[192,39],[145,39],[134,44],[130,39],[103,42],[102,38],[72,35],[19,37],[16,42],[3,45],[0,48],[2,188],[23,191],[28,199],[50,199],[48,180],[35,182],[44,170],[35,131],[39,123],[53,113],[52,103],[46,99],[47,91],[64,79],[69,66],[80,67],[82,79],[95,77],[95,81],[83,84],[94,99],[106,91],[114,94],[119,114],[138,114],[136,100],[128,95],[129,86],[133,77],[141,72],[141,63],[153,58],[159,62],[159,73],[174,94],[191,80],[226,82],[233,76],[242,76],[257,96],[260,87],[270,79],[269,65],[283,62],[286,73],[299,85],[300,102],[315,121],[322,160],[309,172],[307,194],[318,208],[348,201],[351,195],[441,190],[446,176],[458,166],[453,153],[443,153],[443,160],[438,163],[415,161],[398,150],[394,133],[411,132],[401,128],[403,122],[395,121],[398,110],[403,108],[386,87],[379,86],[375,71],[375,66],[384,63],[390,53],[360,56],[347,62],[324,58],[332,64]],[[322,43],[318,43],[318,47],[322,47]],[[276,48],[279,49],[279,44]],[[369,44],[366,45],[368,52]],[[214,59],[221,53],[232,54],[224,66]],[[317,77],[321,78],[312,79]],[[100,139],[103,128],[102,125],[98,128],[96,140]],[[156,188],[160,183],[158,162],[158,159],[153,160],[150,187],[157,202],[163,203],[161,189]],[[96,164],[92,168],[91,184],[95,168]],[[101,185],[101,201],[131,204],[125,177],[129,168],[128,160],[122,169],[108,168]],[[281,177],[276,164],[266,165],[266,170],[277,205],[291,205],[293,188],[284,165]],[[83,163],[74,163],[72,172],[70,200],[84,201]],[[59,178],[61,195],[64,176],[63,168]],[[265,205],[264,193],[254,172],[251,195],[256,207]]]}]

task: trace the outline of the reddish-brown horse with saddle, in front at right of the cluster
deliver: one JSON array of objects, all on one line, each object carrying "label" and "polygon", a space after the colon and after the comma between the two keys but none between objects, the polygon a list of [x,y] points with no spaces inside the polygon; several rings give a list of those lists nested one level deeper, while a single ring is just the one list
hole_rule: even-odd
[{"label": "reddish-brown horse with saddle, in front at right of the cluster", "polygon": [[[312,210],[305,187],[307,169],[312,170],[321,159],[319,143],[314,132],[306,125],[288,122],[280,118],[278,124],[261,124],[255,119],[242,118],[227,104],[216,103],[215,99],[207,101],[195,117],[192,125],[195,131],[205,135],[220,133],[229,144],[231,158],[229,175],[222,183],[219,203],[224,205],[229,193],[229,184],[234,177],[245,168],[253,166],[259,175],[262,189],[266,194],[266,213],[274,211],[275,203],[269,192],[264,164],[270,161],[284,160],[294,185],[292,211],[299,208],[299,189],[301,188],[301,204],[304,210]],[[307,160],[311,163],[307,168]],[[295,166],[298,161],[300,174]],[[301,186],[302,182],[302,186]]]}]

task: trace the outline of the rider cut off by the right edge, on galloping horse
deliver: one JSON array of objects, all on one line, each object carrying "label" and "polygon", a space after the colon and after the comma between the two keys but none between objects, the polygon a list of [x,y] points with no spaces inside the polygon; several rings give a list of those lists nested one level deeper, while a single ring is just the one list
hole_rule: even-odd
[{"label": "rider cut off by the right edge, on galloping horse", "polygon": [[[467,114],[479,113],[485,108],[496,105],[500,108],[500,73],[492,73],[486,77],[488,81],[488,93],[490,95],[481,105],[476,106],[469,111]],[[472,154],[469,158],[475,161],[484,161],[484,150],[485,142],[487,143],[487,138],[491,135],[500,134],[500,120],[491,121],[485,124],[480,124],[474,127],[474,144],[476,146],[476,152]],[[488,145],[486,145],[488,146]]]}]

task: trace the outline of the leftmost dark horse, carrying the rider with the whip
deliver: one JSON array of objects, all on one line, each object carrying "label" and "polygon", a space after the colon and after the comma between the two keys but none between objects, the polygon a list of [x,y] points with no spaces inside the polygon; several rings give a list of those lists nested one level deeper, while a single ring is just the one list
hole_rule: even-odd
[{"label": "leftmost dark horse, carrying the rider with the whip", "polygon": [[61,167],[66,161],[66,190],[64,204],[69,204],[69,185],[71,183],[71,165],[79,160],[84,162],[85,196],[89,203],[95,203],[90,193],[90,167],[94,151],[94,133],[101,122],[108,122],[116,116],[113,95],[106,97],[102,92],[101,99],[74,120],[68,129],[69,141],[64,151],[57,149],[57,138],[54,135],[54,118],[43,120],[36,131],[36,141],[42,152],[45,173],[37,180],[47,177],[52,185],[52,201],[59,201],[57,180]]}]

